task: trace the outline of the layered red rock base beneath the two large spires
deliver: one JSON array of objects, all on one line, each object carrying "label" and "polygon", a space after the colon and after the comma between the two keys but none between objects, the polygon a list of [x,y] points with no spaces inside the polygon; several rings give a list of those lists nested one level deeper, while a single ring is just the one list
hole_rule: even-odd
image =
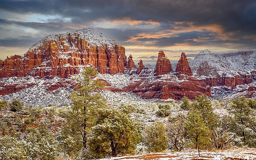
[{"label": "layered red rock base beneath the two large spires", "polygon": [[194,99],[195,96],[204,94],[211,97],[211,88],[204,80],[197,79],[191,76],[170,75],[167,79],[158,80],[157,76],[142,77],[141,80],[125,86],[124,88],[105,89],[113,92],[132,91],[141,98],[159,98],[159,99],[181,99],[187,96],[189,99]]}]

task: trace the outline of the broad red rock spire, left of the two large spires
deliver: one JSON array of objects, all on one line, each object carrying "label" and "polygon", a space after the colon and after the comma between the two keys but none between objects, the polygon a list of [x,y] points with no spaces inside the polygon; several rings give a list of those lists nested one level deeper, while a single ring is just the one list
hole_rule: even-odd
[{"label": "broad red rock spire, left of the two large spires", "polygon": [[170,60],[165,57],[163,51],[159,51],[158,59],[155,64],[155,75],[167,74],[171,71],[171,63]]}]

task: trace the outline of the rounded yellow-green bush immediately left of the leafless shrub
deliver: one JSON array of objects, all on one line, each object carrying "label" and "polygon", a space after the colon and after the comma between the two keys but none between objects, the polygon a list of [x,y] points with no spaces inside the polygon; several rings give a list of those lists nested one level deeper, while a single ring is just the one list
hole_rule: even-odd
[{"label": "rounded yellow-green bush immediately left of the leafless shrub", "polygon": [[167,149],[165,126],[163,123],[157,121],[146,127],[145,145],[148,147],[149,152],[161,152]]}]

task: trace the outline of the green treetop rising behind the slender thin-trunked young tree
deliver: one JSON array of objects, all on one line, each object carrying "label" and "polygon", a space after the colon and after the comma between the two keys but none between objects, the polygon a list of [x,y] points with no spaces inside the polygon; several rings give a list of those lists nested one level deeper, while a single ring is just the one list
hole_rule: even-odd
[{"label": "green treetop rising behind the slender thin-trunked young tree", "polygon": [[204,95],[195,96],[195,99],[196,101],[191,104],[192,109],[200,111],[205,124],[213,127],[218,116],[213,112],[211,101]]}]

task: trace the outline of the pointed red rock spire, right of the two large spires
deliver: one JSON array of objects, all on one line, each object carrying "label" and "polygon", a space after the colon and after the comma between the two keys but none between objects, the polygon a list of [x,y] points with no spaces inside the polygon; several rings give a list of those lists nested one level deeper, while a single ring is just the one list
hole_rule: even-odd
[{"label": "pointed red rock spire, right of the two large spires", "polygon": [[187,56],[184,52],[181,53],[181,58],[178,61],[178,64],[176,66],[176,72],[178,74],[187,74],[189,76],[192,76],[191,68],[188,65]]}]

